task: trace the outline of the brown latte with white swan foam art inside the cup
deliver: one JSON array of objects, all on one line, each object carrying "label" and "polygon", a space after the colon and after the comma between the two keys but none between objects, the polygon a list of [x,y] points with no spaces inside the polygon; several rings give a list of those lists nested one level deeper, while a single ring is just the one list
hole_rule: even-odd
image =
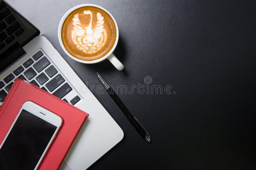
[{"label": "brown latte with white swan foam art inside the cup", "polygon": [[110,15],[97,7],[85,6],[71,12],[61,29],[68,53],[80,60],[105,56],[116,41],[116,25]]}]

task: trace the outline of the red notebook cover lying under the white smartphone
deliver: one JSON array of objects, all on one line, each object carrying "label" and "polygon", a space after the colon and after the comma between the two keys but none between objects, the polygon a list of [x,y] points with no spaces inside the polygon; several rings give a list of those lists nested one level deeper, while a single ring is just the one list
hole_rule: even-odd
[{"label": "red notebook cover lying under the white smartphone", "polygon": [[65,158],[85,119],[82,110],[25,81],[17,79],[0,108],[0,143],[26,101],[34,102],[62,117],[62,126],[38,169],[57,169]]}]

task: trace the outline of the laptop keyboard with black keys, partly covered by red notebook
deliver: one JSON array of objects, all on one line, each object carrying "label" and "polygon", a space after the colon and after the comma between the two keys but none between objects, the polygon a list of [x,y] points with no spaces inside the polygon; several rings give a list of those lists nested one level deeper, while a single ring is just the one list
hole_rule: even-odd
[{"label": "laptop keyboard with black keys, partly covered by red notebook", "polygon": [[[33,56],[29,57],[28,60],[22,65],[17,66],[6,77],[0,78],[0,106],[10,91],[14,80],[17,78],[24,79],[73,105],[81,100],[81,96],[43,50],[39,50]],[[70,97],[69,95],[68,100],[65,96],[70,92],[73,96]]]}]

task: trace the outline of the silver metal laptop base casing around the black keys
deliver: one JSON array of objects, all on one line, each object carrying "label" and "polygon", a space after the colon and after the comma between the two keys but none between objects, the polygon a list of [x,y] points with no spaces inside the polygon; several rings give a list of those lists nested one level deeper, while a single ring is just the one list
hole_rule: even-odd
[{"label": "silver metal laptop base casing around the black keys", "polygon": [[[25,45],[23,49],[27,54],[4,70],[0,74],[0,81],[3,81],[10,73],[13,74],[13,70],[20,65],[22,66],[22,63],[26,62],[29,58],[34,60],[32,56],[40,50],[44,54],[43,56],[45,56],[51,63],[49,66],[45,67],[42,72],[47,75],[45,70],[53,65],[56,70],[58,70],[57,74],[60,74],[63,79],[65,79],[64,82],[67,82],[72,88],[72,91],[62,97],[62,99],[65,98],[67,101],[70,101],[73,96],[79,96],[80,101],[77,102],[75,106],[89,114],[89,117],[81,128],[60,169],[78,170],[88,168],[97,159],[121,141],[124,136],[124,132],[92,92],[90,92],[90,90],[85,86],[83,81],[81,81],[77,74],[72,70],[68,63],[60,56],[60,53],[58,53],[58,51],[44,36],[37,36]],[[37,62],[38,61],[40,61],[40,58]],[[36,63],[36,61],[34,61],[34,63]],[[27,80],[28,78],[25,73],[29,68],[33,69],[31,66],[23,71],[24,77]],[[22,73],[19,75],[22,75]],[[95,78],[97,78],[96,74]],[[14,75],[14,78],[10,82],[13,82],[15,79],[16,76]],[[49,77],[48,81],[51,81],[52,79],[54,79],[54,76],[52,76],[52,78]],[[33,80],[37,82],[36,76],[28,81]],[[43,85],[40,85],[40,83],[37,82],[37,85],[39,85],[40,88],[44,87],[45,84],[47,84],[47,82]],[[51,93],[54,93],[57,90],[58,89],[55,89]]]}]

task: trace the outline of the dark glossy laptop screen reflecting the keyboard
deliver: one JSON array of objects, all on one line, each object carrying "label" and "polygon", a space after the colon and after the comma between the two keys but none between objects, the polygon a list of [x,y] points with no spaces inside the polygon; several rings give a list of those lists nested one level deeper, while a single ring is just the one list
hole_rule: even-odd
[{"label": "dark glossy laptop screen reflecting the keyboard", "polygon": [[3,0],[0,0],[0,72],[19,58],[22,49],[39,30]]}]

